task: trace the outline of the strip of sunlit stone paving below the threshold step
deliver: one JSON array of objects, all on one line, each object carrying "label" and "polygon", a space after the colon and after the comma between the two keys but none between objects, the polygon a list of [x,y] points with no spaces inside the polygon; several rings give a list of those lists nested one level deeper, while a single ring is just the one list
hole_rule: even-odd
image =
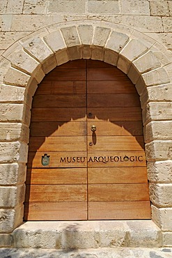
[{"label": "strip of sunlit stone paving below the threshold step", "polygon": [[1,258],[26,257],[26,258],[171,258],[172,248],[97,248],[87,250],[56,250],[41,248],[1,248]]}]

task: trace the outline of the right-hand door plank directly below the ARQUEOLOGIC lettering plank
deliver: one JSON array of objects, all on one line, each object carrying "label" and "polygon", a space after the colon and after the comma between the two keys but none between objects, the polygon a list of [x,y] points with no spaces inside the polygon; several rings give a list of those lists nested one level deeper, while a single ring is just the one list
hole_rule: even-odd
[{"label": "right-hand door plank directly below the ARQUEOLOGIC lettering plank", "polygon": [[146,167],[88,167],[88,183],[148,183]]}]

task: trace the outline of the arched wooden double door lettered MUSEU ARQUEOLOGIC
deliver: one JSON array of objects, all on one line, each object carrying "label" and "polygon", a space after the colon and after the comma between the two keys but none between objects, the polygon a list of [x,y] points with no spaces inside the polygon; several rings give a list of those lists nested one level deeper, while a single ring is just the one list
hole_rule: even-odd
[{"label": "arched wooden double door lettered MUSEU ARQUEOLOGIC", "polygon": [[150,218],[139,96],[118,68],[70,61],[33,97],[25,220]]}]

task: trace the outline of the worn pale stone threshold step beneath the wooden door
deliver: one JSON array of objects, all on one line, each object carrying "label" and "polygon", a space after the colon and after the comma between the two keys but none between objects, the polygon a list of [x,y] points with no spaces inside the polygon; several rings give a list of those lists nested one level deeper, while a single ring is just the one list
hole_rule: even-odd
[{"label": "worn pale stone threshold step beneath the wooden door", "polygon": [[13,232],[15,248],[76,250],[162,246],[152,220],[25,222]]}]

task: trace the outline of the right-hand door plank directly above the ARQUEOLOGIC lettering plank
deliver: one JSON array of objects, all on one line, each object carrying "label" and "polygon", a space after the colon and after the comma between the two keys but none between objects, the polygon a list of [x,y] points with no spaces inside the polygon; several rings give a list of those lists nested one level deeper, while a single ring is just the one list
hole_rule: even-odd
[{"label": "right-hand door plank directly above the ARQUEOLOGIC lettering plank", "polygon": [[141,151],[144,148],[141,136],[96,136],[88,137],[88,151]]}]

